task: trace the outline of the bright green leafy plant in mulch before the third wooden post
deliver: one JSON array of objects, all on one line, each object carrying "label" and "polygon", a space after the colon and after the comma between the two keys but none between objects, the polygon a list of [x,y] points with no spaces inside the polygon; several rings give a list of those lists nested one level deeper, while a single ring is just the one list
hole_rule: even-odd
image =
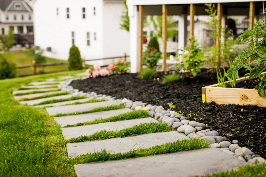
[{"label": "bright green leafy plant in mulch before the third wooden post", "polygon": [[201,53],[201,49],[199,44],[196,43],[194,37],[189,39],[189,44],[181,50],[183,61],[174,65],[174,67],[179,68],[180,66],[184,66],[184,70],[190,72],[190,75],[195,77],[198,72],[201,72],[200,66],[203,66],[204,61],[202,60],[203,54]]}]

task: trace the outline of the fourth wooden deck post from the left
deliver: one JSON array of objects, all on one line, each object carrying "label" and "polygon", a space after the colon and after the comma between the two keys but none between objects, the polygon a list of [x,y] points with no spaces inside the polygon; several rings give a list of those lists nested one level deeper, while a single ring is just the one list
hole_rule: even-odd
[{"label": "fourth wooden deck post from the left", "polygon": [[220,58],[220,53],[221,53],[221,21],[222,21],[222,5],[221,3],[217,3],[217,26],[216,26],[216,67],[220,68],[221,65],[221,58]]}]

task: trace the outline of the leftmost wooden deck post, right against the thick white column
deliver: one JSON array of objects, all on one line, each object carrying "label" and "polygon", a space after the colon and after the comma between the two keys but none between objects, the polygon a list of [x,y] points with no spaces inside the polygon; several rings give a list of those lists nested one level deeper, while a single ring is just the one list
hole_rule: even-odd
[{"label": "leftmost wooden deck post, right against the thick white column", "polygon": [[143,40],[143,9],[139,6],[139,68],[138,71],[142,70],[142,40]]}]

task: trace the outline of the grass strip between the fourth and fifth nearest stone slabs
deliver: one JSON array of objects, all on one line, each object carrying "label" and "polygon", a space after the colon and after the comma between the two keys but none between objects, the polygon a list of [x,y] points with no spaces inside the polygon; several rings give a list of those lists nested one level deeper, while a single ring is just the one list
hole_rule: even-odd
[{"label": "grass strip between the fourth and fifth nearest stone slabs", "polygon": [[103,107],[97,107],[89,111],[81,111],[76,113],[59,113],[56,115],[51,115],[52,117],[61,117],[61,116],[67,116],[67,115],[78,115],[78,114],[86,114],[86,113],[95,113],[95,112],[101,112],[101,111],[110,111],[115,109],[122,109],[125,108],[123,104],[120,105],[111,105],[111,106],[103,106]]}]

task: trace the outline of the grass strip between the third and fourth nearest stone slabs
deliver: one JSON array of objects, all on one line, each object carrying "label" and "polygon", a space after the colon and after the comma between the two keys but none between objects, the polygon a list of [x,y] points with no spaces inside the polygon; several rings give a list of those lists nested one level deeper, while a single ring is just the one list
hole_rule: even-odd
[{"label": "grass strip between the third and fourth nearest stone slabs", "polygon": [[150,116],[150,114],[145,110],[134,110],[131,112],[115,115],[115,116],[105,118],[105,119],[97,118],[97,119],[94,119],[92,121],[77,123],[77,124],[73,124],[73,125],[66,125],[64,127],[76,127],[76,126],[92,125],[92,124],[105,123],[105,122],[116,122],[116,121],[120,121],[120,120],[140,119],[140,118],[146,118],[149,116]]}]

